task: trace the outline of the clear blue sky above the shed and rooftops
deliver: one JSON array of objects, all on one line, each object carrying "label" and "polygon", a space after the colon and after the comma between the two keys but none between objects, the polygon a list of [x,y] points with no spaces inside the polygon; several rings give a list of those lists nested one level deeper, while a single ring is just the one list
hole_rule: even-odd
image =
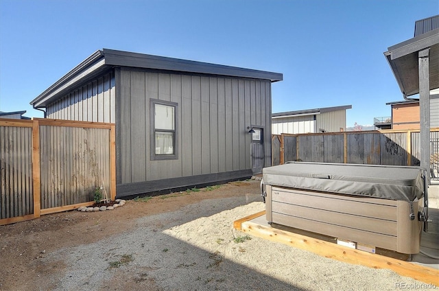
[{"label": "clear blue sky above the shed and rooftops", "polygon": [[0,0],[0,111],[29,102],[97,49],[283,73],[272,113],[352,105],[347,126],[403,100],[383,52],[438,0]]}]

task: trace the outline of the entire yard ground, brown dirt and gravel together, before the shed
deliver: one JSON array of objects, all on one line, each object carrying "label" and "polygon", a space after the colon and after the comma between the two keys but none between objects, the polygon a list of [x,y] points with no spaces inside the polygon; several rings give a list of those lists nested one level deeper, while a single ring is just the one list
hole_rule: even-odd
[{"label": "entire yard ground, brown dirt and gravel together, before the shed", "polygon": [[0,226],[0,290],[395,290],[431,285],[233,229],[259,181]]}]

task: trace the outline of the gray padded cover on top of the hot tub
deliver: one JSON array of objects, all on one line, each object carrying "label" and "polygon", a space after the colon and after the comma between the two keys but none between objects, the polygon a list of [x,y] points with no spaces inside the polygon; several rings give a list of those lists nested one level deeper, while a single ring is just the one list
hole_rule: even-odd
[{"label": "gray padded cover on top of the hot tub", "polygon": [[288,162],[262,170],[265,185],[413,201],[424,195],[422,167]]}]

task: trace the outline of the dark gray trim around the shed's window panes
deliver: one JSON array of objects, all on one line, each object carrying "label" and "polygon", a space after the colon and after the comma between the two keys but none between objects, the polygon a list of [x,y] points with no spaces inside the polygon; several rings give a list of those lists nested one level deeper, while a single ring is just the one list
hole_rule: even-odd
[{"label": "dark gray trim around the shed's window panes", "polygon": [[[174,130],[158,130],[159,132],[174,132],[174,154],[156,154],[156,104],[174,107]],[[177,160],[178,159],[178,103],[158,99],[150,99],[150,159],[151,161]]]}]

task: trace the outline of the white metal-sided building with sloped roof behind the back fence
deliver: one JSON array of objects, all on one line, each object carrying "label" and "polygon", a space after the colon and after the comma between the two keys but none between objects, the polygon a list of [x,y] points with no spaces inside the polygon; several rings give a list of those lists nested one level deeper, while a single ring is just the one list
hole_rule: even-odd
[{"label": "white metal-sided building with sloped roof behind the back fence", "polygon": [[346,109],[352,105],[272,114],[272,134],[340,132],[346,130]]}]

